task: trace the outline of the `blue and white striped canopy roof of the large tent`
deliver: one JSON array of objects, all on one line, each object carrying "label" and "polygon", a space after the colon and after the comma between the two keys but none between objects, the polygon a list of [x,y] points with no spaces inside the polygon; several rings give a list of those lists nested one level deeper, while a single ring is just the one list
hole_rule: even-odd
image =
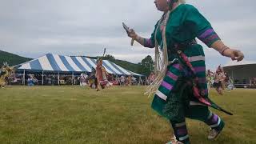
[{"label": "blue and white striped canopy roof of the large tent", "polygon": [[[110,74],[118,75],[137,75],[130,70],[126,70],[121,66],[116,65],[114,62],[103,60],[103,66],[106,71]],[[46,54],[40,58],[31,60],[30,62],[25,62],[19,65],[18,70],[26,71],[45,71],[45,72],[91,72],[92,67],[96,68],[96,59],[86,58],[86,57],[69,57],[62,56],[58,54]]]}]

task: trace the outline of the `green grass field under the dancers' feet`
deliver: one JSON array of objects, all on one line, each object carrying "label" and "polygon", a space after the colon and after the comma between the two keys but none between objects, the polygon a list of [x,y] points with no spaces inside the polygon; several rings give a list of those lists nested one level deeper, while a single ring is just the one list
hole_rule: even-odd
[{"label": "green grass field under the dancers' feet", "polygon": [[[150,108],[145,87],[96,92],[79,86],[7,86],[0,89],[0,143],[165,143],[169,122]],[[209,127],[187,120],[191,143],[256,143],[256,90],[233,90],[211,98],[231,110],[213,110],[226,122],[208,141]]]}]

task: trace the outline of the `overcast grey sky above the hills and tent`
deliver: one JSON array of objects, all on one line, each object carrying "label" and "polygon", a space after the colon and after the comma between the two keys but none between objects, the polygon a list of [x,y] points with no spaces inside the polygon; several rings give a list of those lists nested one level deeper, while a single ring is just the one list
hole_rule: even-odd
[{"label": "overcast grey sky above the hills and tent", "polygon": [[[187,0],[211,22],[227,46],[242,50],[256,61],[255,0]],[[146,38],[162,13],[154,0],[0,0],[0,50],[38,58],[47,53],[102,55],[140,62],[154,50],[137,43],[122,29],[122,22]],[[205,47],[207,68],[229,59]]]}]

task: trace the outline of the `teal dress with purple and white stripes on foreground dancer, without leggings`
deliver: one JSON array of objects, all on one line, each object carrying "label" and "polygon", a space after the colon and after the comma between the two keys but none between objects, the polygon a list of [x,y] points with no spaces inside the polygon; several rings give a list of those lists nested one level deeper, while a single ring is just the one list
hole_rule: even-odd
[{"label": "teal dress with purple and white stripes on foreground dancer, without leggings", "polygon": [[[159,20],[155,26],[154,33],[151,35],[151,38],[146,39],[144,46],[154,47],[154,43],[157,41],[161,48],[163,28],[162,21]],[[205,106],[206,111],[209,111],[208,106],[222,110],[222,108],[208,98],[205,54],[202,46],[194,41],[195,38],[200,39],[209,47],[214,42],[220,40],[210,22],[194,6],[181,4],[170,13],[166,24],[168,58],[169,61],[173,61],[175,58],[178,61],[167,67],[166,76],[154,95],[152,102],[152,108],[158,114],[170,120],[181,120],[185,117],[190,117],[191,114],[188,112],[190,111],[190,106]],[[185,46],[185,49],[182,51],[194,67],[195,77],[198,78],[200,94],[206,102],[210,103],[208,106],[194,98],[191,86],[186,85],[187,82],[193,80],[193,74],[191,74],[191,71],[174,50],[175,46],[180,45]],[[222,111],[226,112],[226,110]]]}]

